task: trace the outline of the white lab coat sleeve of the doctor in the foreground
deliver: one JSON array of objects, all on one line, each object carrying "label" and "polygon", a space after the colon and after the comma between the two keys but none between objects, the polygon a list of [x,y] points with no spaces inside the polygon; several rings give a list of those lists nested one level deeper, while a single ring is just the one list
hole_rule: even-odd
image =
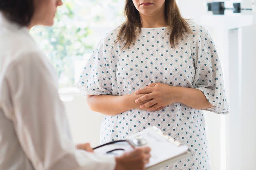
[{"label": "white lab coat sleeve of the doctor in the foreground", "polygon": [[73,145],[54,75],[38,55],[42,54],[22,54],[6,74],[13,104],[9,117],[26,156],[36,170],[113,170],[113,156]]}]

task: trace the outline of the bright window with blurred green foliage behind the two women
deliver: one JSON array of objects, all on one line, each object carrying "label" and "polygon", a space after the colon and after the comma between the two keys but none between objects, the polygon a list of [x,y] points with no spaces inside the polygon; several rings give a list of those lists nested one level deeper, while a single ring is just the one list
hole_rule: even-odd
[{"label": "bright window with blurred green foliage behind the two women", "polygon": [[95,45],[124,21],[124,0],[63,0],[53,27],[32,36],[56,68],[59,88],[72,87]]}]

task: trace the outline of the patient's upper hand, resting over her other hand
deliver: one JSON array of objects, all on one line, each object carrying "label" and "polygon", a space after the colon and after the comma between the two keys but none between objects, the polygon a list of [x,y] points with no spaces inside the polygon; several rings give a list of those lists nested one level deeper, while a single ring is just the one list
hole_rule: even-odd
[{"label": "patient's upper hand, resting over her other hand", "polygon": [[175,86],[168,86],[163,83],[152,83],[145,88],[136,91],[136,94],[147,93],[144,96],[135,100],[135,103],[140,103],[146,100],[149,102],[140,105],[140,108],[148,108],[148,111],[158,110],[160,107],[166,107],[174,102],[177,102],[178,91]]}]

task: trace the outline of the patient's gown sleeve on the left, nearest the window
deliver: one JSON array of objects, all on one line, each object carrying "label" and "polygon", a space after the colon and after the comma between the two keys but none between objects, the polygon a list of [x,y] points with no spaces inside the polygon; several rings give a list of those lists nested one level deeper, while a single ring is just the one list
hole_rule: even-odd
[{"label": "patient's gown sleeve on the left, nearest the window", "polygon": [[110,45],[104,39],[98,43],[75,87],[84,95],[112,95],[112,75],[109,65]]}]

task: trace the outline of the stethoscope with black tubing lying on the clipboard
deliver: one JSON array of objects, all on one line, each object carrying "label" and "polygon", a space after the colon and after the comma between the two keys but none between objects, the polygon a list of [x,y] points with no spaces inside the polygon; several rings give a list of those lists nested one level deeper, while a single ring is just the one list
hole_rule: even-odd
[{"label": "stethoscope with black tubing lying on the clipboard", "polygon": [[[93,150],[98,149],[98,148],[100,148],[100,147],[104,147],[104,146],[106,146],[106,145],[112,145],[112,144],[114,144],[114,143],[120,143],[120,142],[127,142],[127,143],[128,143],[132,148],[134,148],[134,149],[135,149],[136,147],[142,147],[142,146],[144,146],[144,145],[147,144],[146,139],[144,139],[144,137],[143,137],[142,135],[138,135],[138,136],[135,137],[134,140],[118,140],[118,141],[112,141],[112,142],[109,142],[109,143],[105,143],[105,144],[103,144],[103,145],[100,145],[100,146],[98,146],[98,147],[95,147],[95,148],[93,148]],[[109,150],[109,151],[107,151],[106,153],[108,154],[108,153],[114,152],[114,151],[116,151],[116,150],[124,150],[124,149],[122,149],[122,148],[117,148],[117,149]]]}]

